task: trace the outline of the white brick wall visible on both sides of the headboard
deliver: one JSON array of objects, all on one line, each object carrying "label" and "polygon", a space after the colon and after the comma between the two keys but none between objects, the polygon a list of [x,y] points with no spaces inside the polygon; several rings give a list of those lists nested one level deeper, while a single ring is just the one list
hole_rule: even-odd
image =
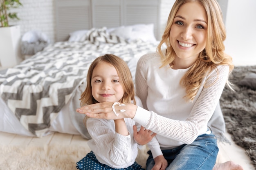
[{"label": "white brick wall visible on both sides of the headboard", "polygon": [[[161,0],[160,5],[160,37],[166,26],[166,20],[175,0]],[[20,0],[22,7],[12,9],[18,13],[19,21],[11,21],[10,24],[19,24],[21,36],[27,31],[41,31],[45,33],[51,42],[55,41],[54,25],[54,0]]]}]

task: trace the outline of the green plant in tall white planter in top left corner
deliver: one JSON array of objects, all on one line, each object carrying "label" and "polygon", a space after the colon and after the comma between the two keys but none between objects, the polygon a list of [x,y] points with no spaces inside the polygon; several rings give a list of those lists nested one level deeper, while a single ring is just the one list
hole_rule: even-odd
[{"label": "green plant in tall white planter in top left corner", "polygon": [[8,68],[16,65],[20,54],[20,26],[9,25],[9,20],[19,20],[11,8],[22,6],[19,0],[0,0],[0,66]]}]

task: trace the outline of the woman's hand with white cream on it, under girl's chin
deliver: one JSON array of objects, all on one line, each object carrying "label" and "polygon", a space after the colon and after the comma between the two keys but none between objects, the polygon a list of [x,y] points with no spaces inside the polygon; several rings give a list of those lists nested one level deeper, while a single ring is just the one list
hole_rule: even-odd
[{"label": "woman's hand with white cream on it, under girl's chin", "polygon": [[[137,106],[131,103],[126,103],[125,105],[115,105],[115,111],[117,115],[115,115],[112,105],[114,102],[102,102],[96,103],[92,105],[86,105],[79,109],[76,109],[78,113],[86,114],[86,116],[91,118],[100,118],[100,119],[121,119],[121,118],[133,118],[135,116]],[[122,110],[122,111],[120,111]]]}]

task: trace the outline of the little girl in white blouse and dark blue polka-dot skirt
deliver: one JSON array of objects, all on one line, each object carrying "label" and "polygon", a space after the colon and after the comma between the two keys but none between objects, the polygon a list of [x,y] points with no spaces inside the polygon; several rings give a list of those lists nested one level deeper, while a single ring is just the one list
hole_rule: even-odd
[{"label": "little girl in white blouse and dark blue polka-dot skirt", "polygon": [[[134,85],[128,66],[112,54],[103,55],[92,62],[88,70],[87,87],[80,100],[81,106],[106,101],[117,104],[140,102],[139,98],[135,102]],[[88,141],[92,151],[76,163],[77,169],[143,169],[135,162],[138,152],[138,144],[133,138],[135,121],[129,118],[106,120],[85,117],[85,125],[92,137]],[[151,136],[151,131],[148,131],[148,135]]]}]

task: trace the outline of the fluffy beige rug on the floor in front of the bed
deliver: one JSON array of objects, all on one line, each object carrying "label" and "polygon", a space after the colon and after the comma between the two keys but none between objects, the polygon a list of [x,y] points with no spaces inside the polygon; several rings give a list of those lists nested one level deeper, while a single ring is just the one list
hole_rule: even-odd
[{"label": "fluffy beige rug on the floor in front of the bed", "polygon": [[[146,150],[139,150],[136,159],[144,168]],[[88,152],[88,147],[71,145],[0,146],[0,170],[76,170],[76,162]]]}]

